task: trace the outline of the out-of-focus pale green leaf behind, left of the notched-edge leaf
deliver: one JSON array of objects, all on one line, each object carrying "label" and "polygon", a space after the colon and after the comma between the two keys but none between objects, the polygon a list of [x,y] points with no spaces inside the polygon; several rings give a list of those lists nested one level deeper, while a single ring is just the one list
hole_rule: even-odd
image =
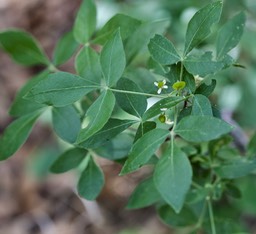
[{"label": "out-of-focus pale green leaf behind, left of the notched-edge leaf", "polygon": [[134,33],[127,38],[125,53],[127,64],[149,43],[156,33],[162,34],[170,24],[170,19],[142,23]]}]

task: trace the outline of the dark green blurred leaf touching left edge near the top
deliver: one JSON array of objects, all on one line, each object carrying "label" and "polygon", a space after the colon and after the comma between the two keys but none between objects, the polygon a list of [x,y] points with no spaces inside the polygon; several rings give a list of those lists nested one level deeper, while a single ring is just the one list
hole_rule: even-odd
[{"label": "dark green blurred leaf touching left edge near the top", "polygon": [[16,62],[31,66],[50,62],[36,39],[27,32],[13,29],[0,32],[0,45]]}]

